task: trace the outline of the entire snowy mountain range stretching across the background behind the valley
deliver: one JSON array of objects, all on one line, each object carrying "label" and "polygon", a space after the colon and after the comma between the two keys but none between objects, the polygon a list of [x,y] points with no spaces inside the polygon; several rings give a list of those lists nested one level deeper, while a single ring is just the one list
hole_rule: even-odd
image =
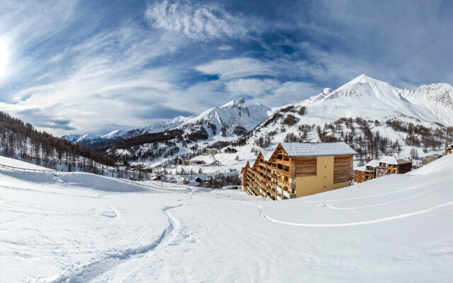
[{"label": "entire snowy mountain range stretching across the background behind the valley", "polygon": [[422,157],[441,153],[445,140],[453,139],[452,96],[452,86],[445,83],[409,90],[361,75],[336,90],[323,88],[280,108],[246,105],[241,98],[195,117],[116,132],[112,139],[82,136],[74,142],[154,165],[180,155],[193,158],[207,146],[222,148],[231,142],[239,159],[253,158],[255,151],[282,141],[345,141],[357,149],[360,161],[385,154],[407,156],[413,149]]}]

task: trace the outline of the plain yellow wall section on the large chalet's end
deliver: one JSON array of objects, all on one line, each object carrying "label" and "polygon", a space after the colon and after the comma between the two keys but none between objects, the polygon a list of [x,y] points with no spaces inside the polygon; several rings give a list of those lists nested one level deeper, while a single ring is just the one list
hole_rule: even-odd
[{"label": "plain yellow wall section on the large chalet's end", "polygon": [[296,197],[314,195],[319,192],[336,190],[349,185],[349,182],[333,183],[333,159],[334,156],[318,156],[316,176],[296,178]]}]

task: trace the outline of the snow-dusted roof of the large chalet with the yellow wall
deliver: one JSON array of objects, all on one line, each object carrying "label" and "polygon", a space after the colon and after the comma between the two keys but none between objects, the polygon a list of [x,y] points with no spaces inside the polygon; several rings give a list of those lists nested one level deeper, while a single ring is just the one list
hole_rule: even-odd
[{"label": "snow-dusted roof of the large chalet with the yellow wall", "polygon": [[357,154],[348,144],[341,142],[282,142],[288,156],[337,156]]}]

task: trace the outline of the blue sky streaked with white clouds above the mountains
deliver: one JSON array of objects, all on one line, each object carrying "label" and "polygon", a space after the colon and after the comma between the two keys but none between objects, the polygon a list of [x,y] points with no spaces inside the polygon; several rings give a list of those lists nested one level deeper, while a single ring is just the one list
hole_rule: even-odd
[{"label": "blue sky streaked with white clouds above the mountains", "polygon": [[453,85],[452,1],[0,0],[0,111],[106,134],[360,74]]}]

